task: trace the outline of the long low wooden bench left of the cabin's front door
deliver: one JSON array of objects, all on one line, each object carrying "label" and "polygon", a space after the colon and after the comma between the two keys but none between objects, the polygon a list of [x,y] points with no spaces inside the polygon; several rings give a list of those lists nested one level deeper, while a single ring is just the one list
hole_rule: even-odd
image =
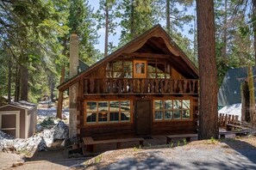
[{"label": "long low wooden bench left of the cabin's front door", "polygon": [[138,138],[122,138],[122,139],[109,139],[109,140],[98,140],[94,141],[92,137],[83,137],[84,145],[88,149],[92,147],[92,152],[96,151],[97,144],[107,144],[107,143],[116,143],[116,149],[121,149],[121,143],[128,142],[139,142],[140,146],[143,146],[144,139],[141,137]]}]

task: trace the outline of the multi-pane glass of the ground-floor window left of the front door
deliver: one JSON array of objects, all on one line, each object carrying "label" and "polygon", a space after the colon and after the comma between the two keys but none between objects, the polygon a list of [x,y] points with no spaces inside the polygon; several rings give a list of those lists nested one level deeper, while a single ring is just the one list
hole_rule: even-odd
[{"label": "multi-pane glass of the ground-floor window left of the front door", "polygon": [[85,101],[84,124],[102,124],[130,121],[130,100]]}]

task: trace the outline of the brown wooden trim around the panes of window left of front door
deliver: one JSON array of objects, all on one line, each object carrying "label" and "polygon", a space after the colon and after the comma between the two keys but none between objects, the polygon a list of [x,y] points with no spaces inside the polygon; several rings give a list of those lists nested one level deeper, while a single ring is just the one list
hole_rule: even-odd
[{"label": "brown wooden trim around the panes of window left of front door", "polygon": [[[97,102],[97,115],[96,115],[96,122],[92,122],[92,123],[87,123],[87,112],[86,112],[86,103],[88,101],[91,101],[91,102]],[[110,109],[108,109],[108,115],[107,115],[107,121],[106,122],[99,122],[98,121],[98,102],[101,102],[101,101],[119,101],[119,111],[118,111],[118,117],[119,117],[119,120],[118,121],[110,121]],[[120,101],[129,101],[130,102],[130,119],[128,121],[122,121],[121,120],[121,105],[120,105]],[[126,99],[122,99],[122,100],[84,100],[84,115],[83,115],[83,118],[84,118],[84,125],[101,125],[101,124],[132,124],[133,123],[133,117],[134,117],[134,112],[133,112],[133,100],[126,100]],[[90,112],[91,113],[91,112]]]}]

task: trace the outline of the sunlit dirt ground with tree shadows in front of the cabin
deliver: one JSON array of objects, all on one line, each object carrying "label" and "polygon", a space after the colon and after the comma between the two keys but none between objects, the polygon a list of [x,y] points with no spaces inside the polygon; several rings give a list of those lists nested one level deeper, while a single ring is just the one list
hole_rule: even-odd
[{"label": "sunlit dirt ground with tree shadows in front of the cabin", "polygon": [[[182,145],[182,146],[181,146]],[[161,148],[162,147],[162,148]],[[256,169],[256,137],[108,151],[86,169]]]}]

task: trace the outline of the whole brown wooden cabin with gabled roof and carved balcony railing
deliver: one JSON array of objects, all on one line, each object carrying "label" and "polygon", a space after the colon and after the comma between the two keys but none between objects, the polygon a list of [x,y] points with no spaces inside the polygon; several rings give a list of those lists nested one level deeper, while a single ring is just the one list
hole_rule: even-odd
[{"label": "whole brown wooden cabin with gabled roof and carved balcony railing", "polygon": [[78,137],[197,133],[198,70],[159,25],[59,85],[78,84]]}]

